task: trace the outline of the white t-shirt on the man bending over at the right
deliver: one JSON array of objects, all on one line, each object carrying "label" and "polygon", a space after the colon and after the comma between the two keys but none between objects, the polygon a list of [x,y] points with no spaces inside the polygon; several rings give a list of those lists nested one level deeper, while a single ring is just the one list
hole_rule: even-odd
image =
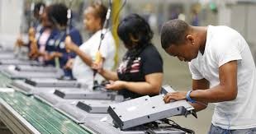
[{"label": "white t-shirt on the man bending over at the right", "polygon": [[220,84],[219,67],[237,60],[236,99],[216,103],[212,124],[224,129],[256,127],[256,71],[249,45],[239,33],[227,26],[208,26],[203,55],[189,62],[192,79],[205,78],[210,86]]}]

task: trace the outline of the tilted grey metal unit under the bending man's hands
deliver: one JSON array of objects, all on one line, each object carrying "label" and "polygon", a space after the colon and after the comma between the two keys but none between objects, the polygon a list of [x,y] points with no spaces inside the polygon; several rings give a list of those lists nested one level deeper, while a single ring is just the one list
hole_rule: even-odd
[{"label": "tilted grey metal unit under the bending man's hands", "polygon": [[107,112],[121,130],[176,115],[187,117],[189,113],[194,114],[194,108],[186,100],[165,104],[163,97],[164,95],[154,97],[146,95],[119,104],[111,104]]}]

